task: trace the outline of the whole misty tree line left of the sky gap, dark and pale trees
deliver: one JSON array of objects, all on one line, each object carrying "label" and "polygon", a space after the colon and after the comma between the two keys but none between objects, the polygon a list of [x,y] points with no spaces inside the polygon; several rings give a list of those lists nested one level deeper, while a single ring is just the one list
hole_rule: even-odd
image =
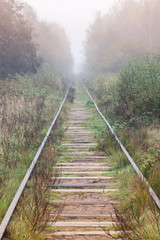
[{"label": "whole misty tree line left of the sky gap, dark and pale trees", "polygon": [[0,1],[0,75],[36,73],[43,65],[70,74],[72,56],[65,31],[55,22],[39,21],[27,3]]}]

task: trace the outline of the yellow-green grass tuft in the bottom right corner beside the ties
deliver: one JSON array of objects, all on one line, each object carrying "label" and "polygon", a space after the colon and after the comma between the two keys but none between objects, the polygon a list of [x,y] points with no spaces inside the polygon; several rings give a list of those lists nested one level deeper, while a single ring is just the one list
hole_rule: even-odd
[{"label": "yellow-green grass tuft in the bottom right corner beside the ties", "polygon": [[134,204],[131,203],[128,212],[124,215],[115,206],[114,212],[117,224],[114,225],[116,231],[120,233],[115,237],[107,231],[113,239],[123,240],[158,240],[160,232],[160,213],[153,203],[150,203],[147,211],[143,215],[136,214]]}]

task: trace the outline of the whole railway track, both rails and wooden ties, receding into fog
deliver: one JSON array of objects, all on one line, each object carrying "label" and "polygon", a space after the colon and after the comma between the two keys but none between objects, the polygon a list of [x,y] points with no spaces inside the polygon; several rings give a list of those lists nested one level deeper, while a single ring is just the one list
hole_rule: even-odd
[{"label": "whole railway track, both rails and wooden ties, receding into fog", "polygon": [[[63,110],[68,92],[69,90],[66,92],[56,117],[0,225],[0,239],[3,238],[36,162],[45,147],[53,126],[58,120],[61,110]],[[83,96],[86,97],[83,99]],[[61,156],[56,164],[59,176],[57,183],[51,188],[51,191],[58,196],[56,198],[58,200],[50,200],[53,205],[53,211],[50,212],[50,215],[53,219],[57,217],[54,212],[55,207],[56,209],[62,209],[62,211],[58,215],[57,222],[47,223],[49,230],[45,232],[45,239],[48,240],[111,240],[111,237],[107,235],[108,232],[113,236],[118,234],[114,230],[116,216],[114,215],[113,205],[116,206],[119,203],[119,201],[115,200],[115,195],[118,194],[119,189],[107,156],[105,156],[105,153],[96,150],[96,130],[92,127],[92,119],[95,116],[93,111],[86,107],[89,99],[114,135],[117,144],[119,144],[135,172],[142,181],[149,185],[108,121],[98,109],[87,89],[77,87],[74,103],[71,104],[67,121],[64,124],[66,129],[65,137],[61,143]],[[100,117],[99,119],[101,120]],[[55,168],[55,166],[53,167]],[[53,181],[54,178],[55,172],[53,172]],[[160,208],[160,200],[150,186],[149,193]]]}]

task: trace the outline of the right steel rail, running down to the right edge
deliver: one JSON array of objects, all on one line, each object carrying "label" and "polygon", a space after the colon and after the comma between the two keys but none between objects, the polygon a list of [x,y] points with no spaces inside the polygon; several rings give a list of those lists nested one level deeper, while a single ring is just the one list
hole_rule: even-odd
[{"label": "right steel rail, running down to the right edge", "polygon": [[128,151],[126,150],[126,148],[124,147],[124,145],[121,143],[121,141],[119,140],[119,138],[117,137],[116,133],[114,132],[113,128],[111,127],[111,125],[109,124],[109,122],[107,121],[107,119],[105,118],[105,116],[101,113],[101,111],[99,110],[97,104],[95,103],[94,99],[92,98],[92,96],[90,95],[89,91],[87,90],[87,88],[84,86],[85,91],[87,92],[88,96],[90,97],[90,99],[92,100],[95,108],[97,109],[99,115],[103,118],[103,120],[105,121],[105,123],[107,124],[109,130],[111,131],[111,133],[114,135],[117,143],[119,144],[119,146],[121,147],[122,151],[124,152],[124,154],[126,155],[126,157],[128,158],[129,162],[131,163],[132,167],[134,168],[135,172],[138,174],[138,176],[140,177],[140,179],[149,187],[149,193],[151,195],[151,197],[153,198],[153,200],[155,201],[155,203],[157,204],[158,208],[160,209],[160,199],[158,198],[158,196],[156,195],[155,191],[153,190],[153,188],[149,185],[148,181],[146,180],[146,178],[143,176],[142,172],[140,171],[140,169],[138,168],[138,166],[136,165],[136,163],[134,162],[134,160],[132,159],[132,157],[130,156],[130,154],[128,153]]}]

